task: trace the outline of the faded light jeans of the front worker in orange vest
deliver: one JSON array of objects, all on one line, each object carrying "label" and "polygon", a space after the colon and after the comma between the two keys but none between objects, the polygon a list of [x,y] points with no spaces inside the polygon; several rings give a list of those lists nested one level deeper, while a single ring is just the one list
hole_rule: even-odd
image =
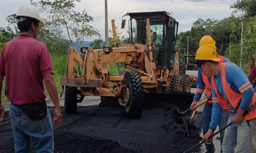
[{"label": "faded light jeans of the front worker in orange vest", "polygon": [[[232,122],[235,114],[232,114],[228,123]],[[255,133],[254,120],[242,120],[240,123],[232,124],[225,130],[222,150],[224,153],[250,153],[252,139]]]}]

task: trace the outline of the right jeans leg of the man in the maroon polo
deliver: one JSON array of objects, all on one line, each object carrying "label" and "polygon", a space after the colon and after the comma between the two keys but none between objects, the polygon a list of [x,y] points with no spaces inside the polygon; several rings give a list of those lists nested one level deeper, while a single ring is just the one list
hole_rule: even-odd
[{"label": "right jeans leg of the man in the maroon polo", "polygon": [[52,118],[47,109],[47,115],[39,119],[44,124],[37,132],[31,131],[35,142],[36,152],[52,153],[54,148]]}]

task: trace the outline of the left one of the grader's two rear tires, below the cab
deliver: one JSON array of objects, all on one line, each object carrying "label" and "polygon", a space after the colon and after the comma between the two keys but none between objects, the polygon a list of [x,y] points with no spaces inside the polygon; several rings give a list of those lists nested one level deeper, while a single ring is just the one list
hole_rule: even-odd
[{"label": "left one of the grader's two rear tires, below the cab", "polygon": [[169,91],[183,91],[182,77],[180,75],[174,74],[172,76]]}]

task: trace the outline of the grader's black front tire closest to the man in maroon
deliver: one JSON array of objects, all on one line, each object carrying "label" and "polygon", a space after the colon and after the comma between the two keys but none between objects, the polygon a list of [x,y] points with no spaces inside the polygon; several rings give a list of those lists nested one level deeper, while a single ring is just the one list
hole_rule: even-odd
[{"label": "grader's black front tire closest to the man in maroon", "polygon": [[66,86],[64,110],[66,114],[76,113],[77,110],[77,87]]}]

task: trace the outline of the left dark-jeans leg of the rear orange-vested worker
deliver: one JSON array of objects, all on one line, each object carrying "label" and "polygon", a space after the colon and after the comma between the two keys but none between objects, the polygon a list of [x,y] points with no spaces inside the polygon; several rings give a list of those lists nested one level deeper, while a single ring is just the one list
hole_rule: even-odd
[{"label": "left dark-jeans leg of the rear orange-vested worker", "polygon": [[[202,125],[204,135],[208,131],[211,118],[212,118],[212,104],[205,103],[204,110],[202,112],[202,120],[201,120],[201,125]],[[208,153],[213,153],[215,151],[214,144],[212,142],[205,142],[204,144]]]}]

